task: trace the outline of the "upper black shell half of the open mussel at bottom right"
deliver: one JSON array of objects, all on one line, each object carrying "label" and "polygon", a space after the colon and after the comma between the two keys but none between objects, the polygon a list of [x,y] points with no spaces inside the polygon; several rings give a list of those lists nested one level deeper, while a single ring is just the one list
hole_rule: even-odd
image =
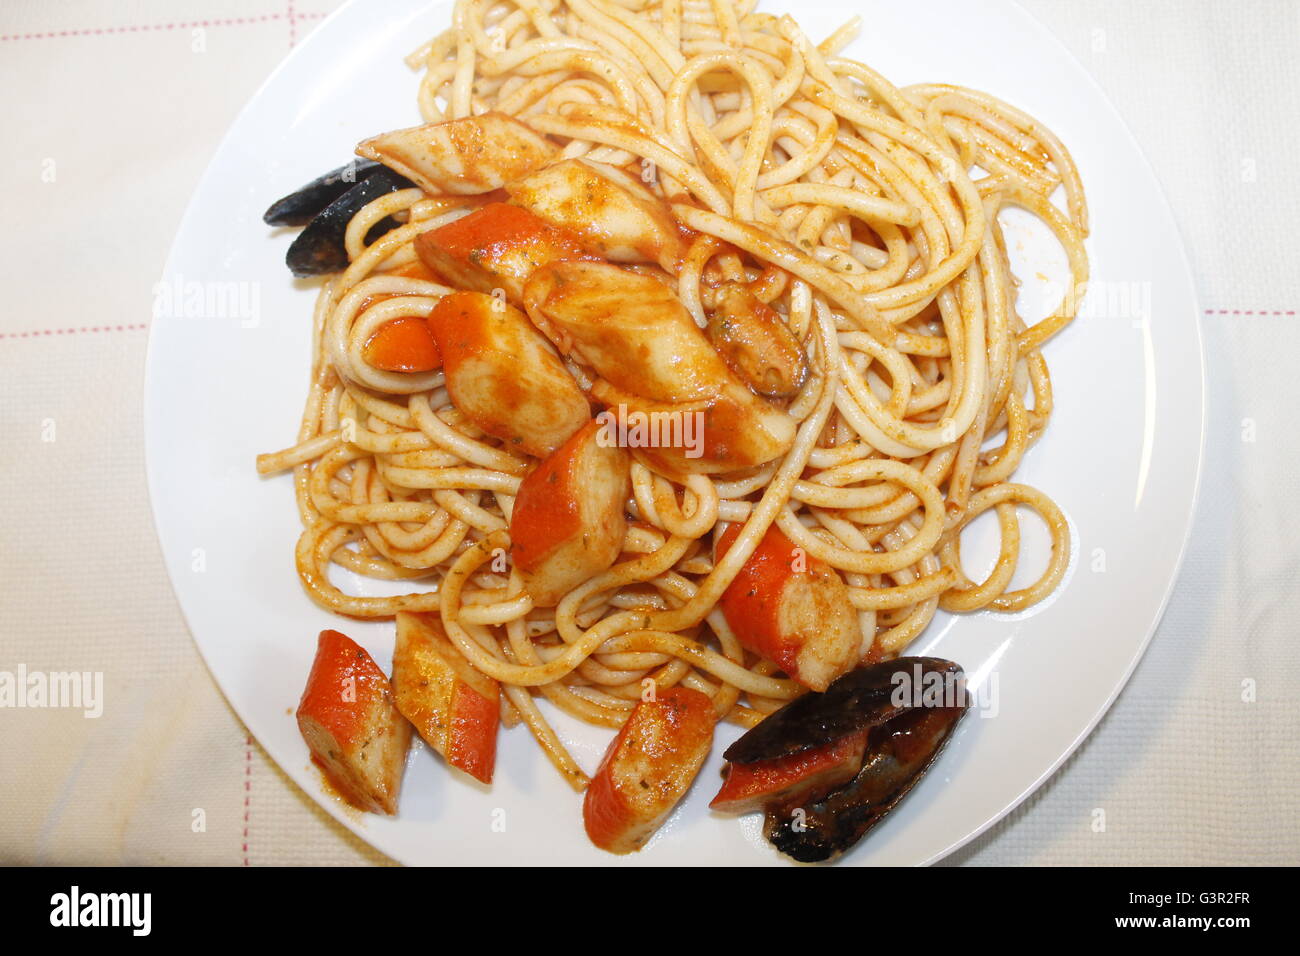
[{"label": "upper black shell half of the open mussel at bottom right", "polygon": [[[876,727],[911,708],[911,700],[900,705],[896,674],[906,674],[905,687],[915,683],[916,667],[922,679],[942,675],[945,682],[962,676],[959,665],[937,657],[900,657],[849,671],[832,683],[824,693],[796,697],[780,710],[750,728],[723,754],[733,763],[776,760],[792,753],[826,747],[836,740]],[[931,678],[932,679],[932,678]]]}]

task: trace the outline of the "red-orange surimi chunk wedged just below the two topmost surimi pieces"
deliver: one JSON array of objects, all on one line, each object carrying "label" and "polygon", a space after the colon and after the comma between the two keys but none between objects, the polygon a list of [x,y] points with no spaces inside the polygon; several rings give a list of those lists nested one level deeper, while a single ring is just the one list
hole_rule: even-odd
[{"label": "red-orange surimi chunk wedged just below the two topmost surimi pieces", "polygon": [[500,289],[516,306],[523,304],[524,282],[540,265],[592,258],[572,235],[506,203],[489,203],[417,235],[415,251],[451,285],[480,293]]}]

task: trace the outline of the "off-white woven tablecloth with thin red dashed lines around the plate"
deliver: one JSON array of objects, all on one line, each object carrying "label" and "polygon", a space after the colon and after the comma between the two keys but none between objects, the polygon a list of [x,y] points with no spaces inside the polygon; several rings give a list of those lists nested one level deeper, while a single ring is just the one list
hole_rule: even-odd
[{"label": "off-white woven tablecloth with thin red dashed lines around the plate", "polygon": [[[101,717],[0,710],[0,861],[387,864],[270,762],[172,594],[144,484],[152,289],[238,109],[333,0],[0,9],[0,670],[104,674]],[[1026,0],[1132,127],[1196,277],[1201,501],[1096,732],[952,864],[1296,864],[1300,3]],[[1098,826],[1104,821],[1104,826]]]}]

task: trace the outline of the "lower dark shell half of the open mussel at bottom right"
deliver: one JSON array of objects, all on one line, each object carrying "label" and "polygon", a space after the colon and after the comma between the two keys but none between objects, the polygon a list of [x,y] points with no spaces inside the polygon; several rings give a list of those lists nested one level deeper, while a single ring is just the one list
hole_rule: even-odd
[{"label": "lower dark shell half of the open mussel at bottom right", "polygon": [[[915,786],[953,735],[966,708],[914,708],[871,731],[867,753],[849,783],[800,808],[771,808],[763,832],[800,862],[831,860],[861,840]],[[898,734],[918,735],[894,748]]]}]

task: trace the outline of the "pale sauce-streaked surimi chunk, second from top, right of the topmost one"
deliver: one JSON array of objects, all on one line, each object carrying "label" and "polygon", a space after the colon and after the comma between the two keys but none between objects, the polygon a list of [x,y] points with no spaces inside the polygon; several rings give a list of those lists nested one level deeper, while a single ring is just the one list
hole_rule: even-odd
[{"label": "pale sauce-streaked surimi chunk, second from top, right of the topmost one", "polygon": [[677,268],[681,237],[668,204],[616,166],[564,160],[506,183],[506,191],[602,259]]}]

